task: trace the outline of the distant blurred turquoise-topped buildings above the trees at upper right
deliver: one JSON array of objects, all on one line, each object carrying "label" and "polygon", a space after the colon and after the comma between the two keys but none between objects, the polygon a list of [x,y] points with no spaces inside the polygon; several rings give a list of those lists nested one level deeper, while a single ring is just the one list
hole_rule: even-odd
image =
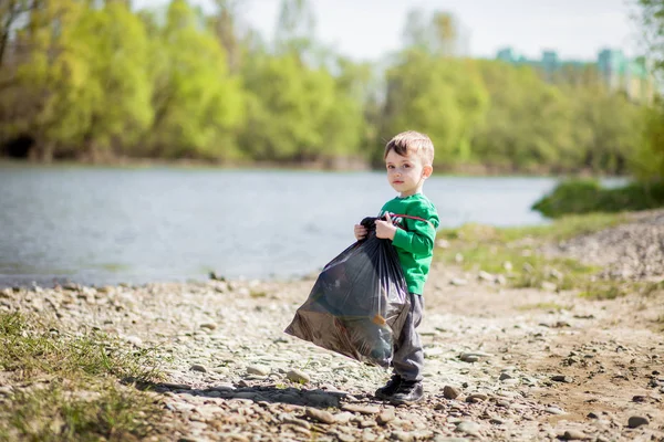
[{"label": "distant blurred turquoise-topped buildings above the trees at upper right", "polygon": [[605,49],[596,61],[561,60],[556,51],[543,51],[539,60],[518,55],[511,48],[496,54],[497,60],[538,70],[544,80],[582,81],[593,72],[611,91],[622,91],[630,99],[650,103],[654,97],[654,77],[644,57],[629,59],[621,50]]}]

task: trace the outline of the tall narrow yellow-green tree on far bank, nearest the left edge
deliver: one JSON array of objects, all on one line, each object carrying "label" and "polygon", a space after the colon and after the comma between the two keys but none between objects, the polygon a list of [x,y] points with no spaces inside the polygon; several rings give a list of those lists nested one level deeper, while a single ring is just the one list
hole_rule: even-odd
[{"label": "tall narrow yellow-green tree on far bank, nearest the left edge", "polygon": [[112,145],[133,146],[152,124],[152,82],[145,60],[148,40],[143,22],[125,2],[87,10],[74,39],[85,42],[89,77],[76,106],[86,109],[84,155],[97,161]]}]

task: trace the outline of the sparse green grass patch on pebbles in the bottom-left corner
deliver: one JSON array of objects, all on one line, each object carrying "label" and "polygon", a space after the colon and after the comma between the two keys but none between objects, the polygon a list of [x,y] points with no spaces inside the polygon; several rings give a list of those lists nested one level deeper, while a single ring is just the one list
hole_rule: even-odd
[{"label": "sparse green grass patch on pebbles in the bottom-left corner", "polygon": [[162,419],[152,396],[121,383],[162,379],[149,350],[18,313],[0,313],[0,383],[13,387],[0,394],[0,441],[131,441]]}]

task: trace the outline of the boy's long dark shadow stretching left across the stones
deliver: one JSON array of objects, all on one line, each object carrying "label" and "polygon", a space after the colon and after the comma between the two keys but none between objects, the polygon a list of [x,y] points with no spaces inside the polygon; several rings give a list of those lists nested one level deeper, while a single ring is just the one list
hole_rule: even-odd
[{"label": "boy's long dark shadow stretching left across the stones", "polygon": [[174,386],[167,382],[133,381],[139,390],[149,390],[157,393],[172,392],[173,394],[193,394],[215,399],[248,399],[256,403],[288,403],[292,406],[312,407],[319,409],[340,408],[342,399],[356,401],[355,397],[344,391],[326,391],[322,389],[304,390],[294,387],[248,386],[248,387],[209,387],[194,389],[188,386]]}]

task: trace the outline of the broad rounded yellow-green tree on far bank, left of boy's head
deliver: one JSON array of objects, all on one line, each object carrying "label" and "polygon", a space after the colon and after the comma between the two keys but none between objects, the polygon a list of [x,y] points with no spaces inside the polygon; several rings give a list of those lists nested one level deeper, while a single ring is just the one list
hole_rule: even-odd
[{"label": "broad rounded yellow-green tree on far bank, left of boy's head", "polygon": [[250,157],[310,161],[356,151],[362,107],[343,78],[288,53],[255,54],[245,81],[250,102],[241,144]]}]

